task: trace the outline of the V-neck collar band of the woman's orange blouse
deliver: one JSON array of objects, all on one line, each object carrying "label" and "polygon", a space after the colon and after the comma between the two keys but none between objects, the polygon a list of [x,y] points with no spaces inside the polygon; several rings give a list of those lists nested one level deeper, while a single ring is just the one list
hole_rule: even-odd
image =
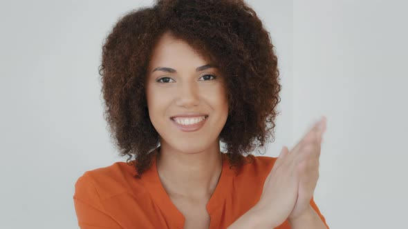
[{"label": "V-neck collar band of the woman's orange blouse", "polygon": [[[158,149],[156,148],[156,150],[151,153],[154,153],[151,161],[151,167],[141,175],[141,179],[149,191],[151,198],[163,212],[163,215],[165,215],[165,218],[170,219],[171,224],[174,224],[174,226],[177,228],[182,229],[184,227],[185,217],[180,210],[176,208],[169,195],[167,195],[167,192],[160,181],[160,177],[158,176],[156,166]],[[230,169],[227,155],[223,152],[221,152],[221,155],[223,159],[223,166],[221,169],[219,182],[217,183],[216,188],[206,206],[207,212],[211,218],[213,218],[213,212],[219,207],[223,206],[223,203],[225,202],[225,195],[232,186],[232,176],[234,175],[234,171]],[[214,222],[211,224],[213,223]]]}]

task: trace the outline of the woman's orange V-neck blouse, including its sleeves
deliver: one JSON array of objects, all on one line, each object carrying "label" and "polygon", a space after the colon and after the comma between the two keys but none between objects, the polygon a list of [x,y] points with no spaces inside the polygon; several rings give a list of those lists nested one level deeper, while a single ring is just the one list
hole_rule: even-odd
[{"label": "woman's orange V-neck blouse, including its sleeves", "polygon": [[[221,177],[206,206],[211,217],[210,229],[227,228],[259,201],[263,183],[277,159],[247,156],[253,157],[253,162],[245,163],[236,177],[228,157],[222,155]],[[156,157],[141,179],[134,175],[134,167],[125,162],[85,172],[75,183],[73,195],[80,228],[182,229],[185,218],[160,182]],[[310,205],[326,223],[313,198]],[[290,225],[286,220],[277,228],[289,229]]]}]

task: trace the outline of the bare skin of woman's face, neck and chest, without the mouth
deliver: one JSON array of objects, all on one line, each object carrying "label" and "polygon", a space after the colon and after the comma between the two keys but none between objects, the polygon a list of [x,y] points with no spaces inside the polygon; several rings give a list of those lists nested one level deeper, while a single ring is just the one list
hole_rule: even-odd
[{"label": "bare skin of woman's face, neck and chest, without the mouth", "polygon": [[[148,72],[149,117],[160,135],[160,180],[185,216],[185,228],[208,228],[205,206],[221,175],[219,134],[228,118],[223,77],[214,63],[169,32],[156,44]],[[183,132],[170,117],[186,112],[206,114],[207,121],[200,130]]]}]

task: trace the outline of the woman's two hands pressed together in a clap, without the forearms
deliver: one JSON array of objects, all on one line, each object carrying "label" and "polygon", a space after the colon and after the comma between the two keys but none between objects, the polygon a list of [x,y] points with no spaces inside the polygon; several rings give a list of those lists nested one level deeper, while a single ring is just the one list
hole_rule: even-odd
[{"label": "woman's two hands pressed together in a clap, without the forearms", "polygon": [[255,209],[263,212],[268,226],[279,226],[286,219],[293,220],[310,206],[319,177],[320,145],[326,130],[326,118],[319,123],[293,150],[282,149],[266,177]]}]

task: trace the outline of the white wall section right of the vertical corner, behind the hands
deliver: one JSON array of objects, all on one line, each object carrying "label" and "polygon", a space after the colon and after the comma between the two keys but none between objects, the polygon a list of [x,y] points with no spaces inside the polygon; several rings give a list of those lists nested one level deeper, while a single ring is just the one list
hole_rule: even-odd
[{"label": "white wall section right of the vertical corner, behind the hands", "polygon": [[293,138],[324,114],[333,228],[408,228],[407,1],[293,1]]}]

